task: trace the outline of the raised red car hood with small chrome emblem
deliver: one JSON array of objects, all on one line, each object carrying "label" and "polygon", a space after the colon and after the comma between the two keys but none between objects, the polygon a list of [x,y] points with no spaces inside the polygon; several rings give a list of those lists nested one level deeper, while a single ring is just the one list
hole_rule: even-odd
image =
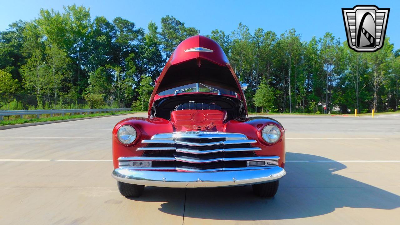
[{"label": "raised red car hood with small chrome emblem", "polygon": [[204,83],[232,90],[244,101],[244,94],[232,66],[217,42],[196,35],[182,41],[156,80],[154,96],[186,84]]}]

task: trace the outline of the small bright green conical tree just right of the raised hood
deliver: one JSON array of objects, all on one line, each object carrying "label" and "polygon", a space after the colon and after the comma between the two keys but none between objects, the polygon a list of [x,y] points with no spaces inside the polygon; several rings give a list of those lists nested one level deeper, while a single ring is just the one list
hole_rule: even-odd
[{"label": "small bright green conical tree just right of the raised hood", "polygon": [[264,107],[266,108],[266,112],[274,110],[274,98],[273,88],[263,78],[260,85],[258,85],[256,94],[254,94],[254,105],[262,107],[261,112],[264,112]]}]

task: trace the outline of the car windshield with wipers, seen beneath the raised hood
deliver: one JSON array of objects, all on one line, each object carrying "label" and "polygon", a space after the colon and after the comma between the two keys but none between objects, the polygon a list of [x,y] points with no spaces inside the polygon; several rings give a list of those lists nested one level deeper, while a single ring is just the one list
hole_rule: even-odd
[{"label": "car windshield with wipers, seen beneath the raised hood", "polygon": [[193,83],[187,84],[183,86],[178,86],[175,88],[171,88],[168,90],[164,90],[158,95],[168,95],[168,94],[180,94],[180,93],[188,93],[188,92],[208,92],[208,93],[216,93],[216,94],[229,94],[235,95],[236,92],[227,90],[218,86],[202,84],[202,83]]}]

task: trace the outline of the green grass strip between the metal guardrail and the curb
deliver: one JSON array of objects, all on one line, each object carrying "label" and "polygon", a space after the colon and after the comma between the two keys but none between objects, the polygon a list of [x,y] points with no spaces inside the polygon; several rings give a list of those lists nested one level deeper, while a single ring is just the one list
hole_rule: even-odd
[{"label": "green grass strip between the metal guardrail and the curb", "polygon": [[46,122],[46,121],[60,121],[60,120],[77,119],[77,118],[85,118],[85,117],[98,117],[98,116],[105,116],[105,115],[118,115],[118,114],[135,113],[135,112],[138,112],[138,111],[120,111],[120,112],[94,113],[94,114],[84,114],[84,115],[69,115],[69,116],[63,116],[63,117],[62,116],[58,116],[58,117],[41,117],[39,119],[38,118],[32,118],[32,119],[25,119],[24,118],[24,119],[2,120],[2,121],[0,121],[0,126],[23,124],[23,123],[37,123],[37,122]]}]

